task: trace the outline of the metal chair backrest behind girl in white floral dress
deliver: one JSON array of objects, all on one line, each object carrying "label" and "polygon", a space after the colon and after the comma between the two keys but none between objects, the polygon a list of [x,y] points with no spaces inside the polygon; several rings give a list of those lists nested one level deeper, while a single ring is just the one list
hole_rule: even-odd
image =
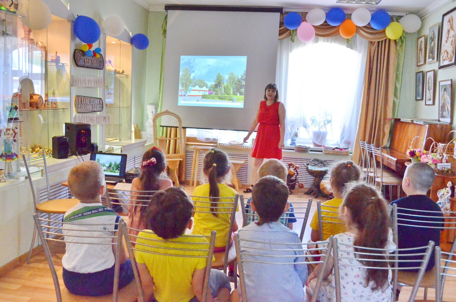
[{"label": "metal chair backrest behind girl in white floral dress", "polygon": [[[334,261],[334,283],[336,287],[336,302],[341,302],[341,267],[354,267],[359,269],[379,269],[379,270],[393,270],[393,290],[391,292],[391,301],[395,301],[396,296],[396,286],[397,286],[397,271],[400,270],[410,270],[417,269],[418,275],[416,277],[415,283],[412,287],[412,292],[408,299],[409,302],[415,301],[416,293],[418,292],[418,287],[420,286],[421,280],[423,279],[427,263],[429,261],[430,254],[434,248],[434,242],[429,241],[427,246],[421,246],[410,249],[378,249],[378,248],[366,248],[355,245],[347,245],[343,243],[338,243],[337,238],[332,237],[330,239],[333,251],[333,261]],[[355,251],[356,249],[356,251]],[[424,250],[425,252],[417,252],[417,250]],[[401,251],[400,257],[410,257],[410,256],[423,256],[420,260],[401,260],[398,259],[398,251]],[[394,257],[391,257],[390,254],[393,253]],[[376,266],[366,266],[363,265],[361,261],[371,260],[368,257],[369,255],[378,255],[384,256],[383,259],[375,259],[375,263],[384,264],[383,267]],[[355,262],[358,261],[358,262]],[[419,262],[419,266],[413,267],[398,267],[399,262]],[[389,291],[387,289],[387,291]]]}]

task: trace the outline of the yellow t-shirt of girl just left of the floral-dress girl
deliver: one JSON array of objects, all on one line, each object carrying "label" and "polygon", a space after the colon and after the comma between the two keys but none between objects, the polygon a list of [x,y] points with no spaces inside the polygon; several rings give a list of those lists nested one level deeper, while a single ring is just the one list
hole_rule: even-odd
[{"label": "yellow t-shirt of girl just left of the floral-dress girl", "polygon": [[[328,212],[321,212],[321,215],[325,216],[332,216],[332,217],[338,217],[339,213],[338,210],[335,208],[328,208],[328,207],[323,207],[323,206],[331,206],[331,207],[337,207],[339,208],[342,204],[342,198],[332,198],[324,203],[321,204],[321,209],[326,210],[326,211],[332,211],[334,213],[328,213]],[[345,225],[344,224],[331,224],[331,223],[326,223],[325,221],[332,221],[332,222],[340,222],[342,221],[338,218],[328,218],[328,217],[321,217],[322,224],[323,224],[323,240],[327,240],[329,237],[334,236],[336,234],[340,234],[345,232]],[[318,213],[315,211],[314,216],[312,217],[312,221],[310,224],[312,229],[318,230]]]}]

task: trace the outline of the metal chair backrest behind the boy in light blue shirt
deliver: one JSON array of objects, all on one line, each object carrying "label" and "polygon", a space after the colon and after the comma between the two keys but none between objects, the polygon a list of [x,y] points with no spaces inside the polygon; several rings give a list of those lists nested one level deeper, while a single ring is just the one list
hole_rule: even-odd
[{"label": "metal chair backrest behind the boy in light blue shirt", "polygon": [[[252,244],[258,244],[261,247],[254,247]],[[245,271],[244,265],[246,263],[260,263],[265,265],[318,265],[321,263],[326,263],[329,259],[329,253],[331,251],[331,244],[329,241],[319,241],[311,243],[272,243],[269,241],[258,241],[258,240],[242,240],[239,238],[239,234],[234,235],[234,245],[236,247],[236,255],[238,259],[239,267],[239,279],[241,286],[241,295],[242,301],[248,302],[249,295],[246,291],[245,286]],[[264,246],[270,245],[270,248],[265,248]],[[309,248],[308,245],[318,245],[317,248]],[[289,255],[277,255],[279,254],[289,254]],[[312,253],[307,253],[312,252]],[[299,253],[297,256],[296,253]],[[302,255],[300,255],[302,253]],[[290,255],[291,254],[291,255]],[[309,255],[307,255],[309,254]],[[321,255],[324,255],[320,257]],[[314,260],[313,258],[320,257],[320,260]],[[297,259],[296,259],[297,258]],[[293,260],[293,261],[290,261]],[[296,260],[295,260],[296,259]],[[288,260],[288,261],[287,261]],[[317,279],[315,292],[318,292],[318,289],[321,286],[321,281],[323,280],[323,272],[320,271],[320,274]],[[260,286],[260,285],[259,285]],[[264,285],[271,286],[271,285]],[[273,285],[272,285],[273,286]],[[311,302],[315,302],[317,295],[313,295]]]}]

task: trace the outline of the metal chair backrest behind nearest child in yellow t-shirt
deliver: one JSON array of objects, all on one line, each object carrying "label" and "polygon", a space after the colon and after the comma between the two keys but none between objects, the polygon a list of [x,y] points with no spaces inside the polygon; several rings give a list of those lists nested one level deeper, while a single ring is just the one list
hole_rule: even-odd
[{"label": "metal chair backrest behind nearest child in yellow t-shirt", "polygon": [[[211,265],[212,265],[212,255],[214,253],[214,246],[215,246],[215,231],[211,232],[210,236],[203,236],[203,235],[185,235],[185,238],[205,238],[207,242],[204,243],[195,243],[192,240],[181,240],[178,243],[182,245],[182,248],[167,248],[160,243],[166,242],[166,240],[155,240],[150,238],[145,238],[139,235],[132,235],[129,234],[129,230],[133,230],[127,227],[125,222],[121,223],[124,238],[127,244],[127,250],[130,255],[131,264],[133,266],[133,271],[135,271],[135,277],[138,273],[138,266],[136,265],[135,260],[135,251],[140,251],[144,253],[154,254],[154,255],[163,255],[169,257],[184,257],[184,258],[206,258],[206,268],[205,268],[205,276],[204,276],[204,285],[203,285],[203,292],[202,292],[202,301],[207,301],[207,295],[211,294],[209,289],[209,275],[211,272]],[[150,231],[150,234],[154,234]],[[132,245],[132,237],[135,237],[135,245]],[[138,243],[138,239],[140,239],[141,243]],[[144,243],[144,240],[147,240],[149,243]],[[190,246],[201,245],[201,249],[195,250],[190,248]],[[154,250],[155,249],[155,250]],[[177,252],[179,251],[179,252]],[[201,255],[194,255],[195,251],[201,252]],[[178,268],[177,268],[178,269]],[[139,278],[139,277],[137,277]],[[139,280],[139,279],[138,279]],[[147,302],[144,301],[144,293],[142,288],[138,291],[139,292],[139,302]]]}]

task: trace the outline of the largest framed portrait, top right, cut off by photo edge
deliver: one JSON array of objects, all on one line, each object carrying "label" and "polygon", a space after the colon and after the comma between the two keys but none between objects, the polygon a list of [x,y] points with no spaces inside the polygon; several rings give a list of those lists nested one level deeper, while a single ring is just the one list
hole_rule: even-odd
[{"label": "largest framed portrait, top right, cut off by photo edge", "polygon": [[439,69],[455,65],[456,7],[442,15],[440,31]]}]

